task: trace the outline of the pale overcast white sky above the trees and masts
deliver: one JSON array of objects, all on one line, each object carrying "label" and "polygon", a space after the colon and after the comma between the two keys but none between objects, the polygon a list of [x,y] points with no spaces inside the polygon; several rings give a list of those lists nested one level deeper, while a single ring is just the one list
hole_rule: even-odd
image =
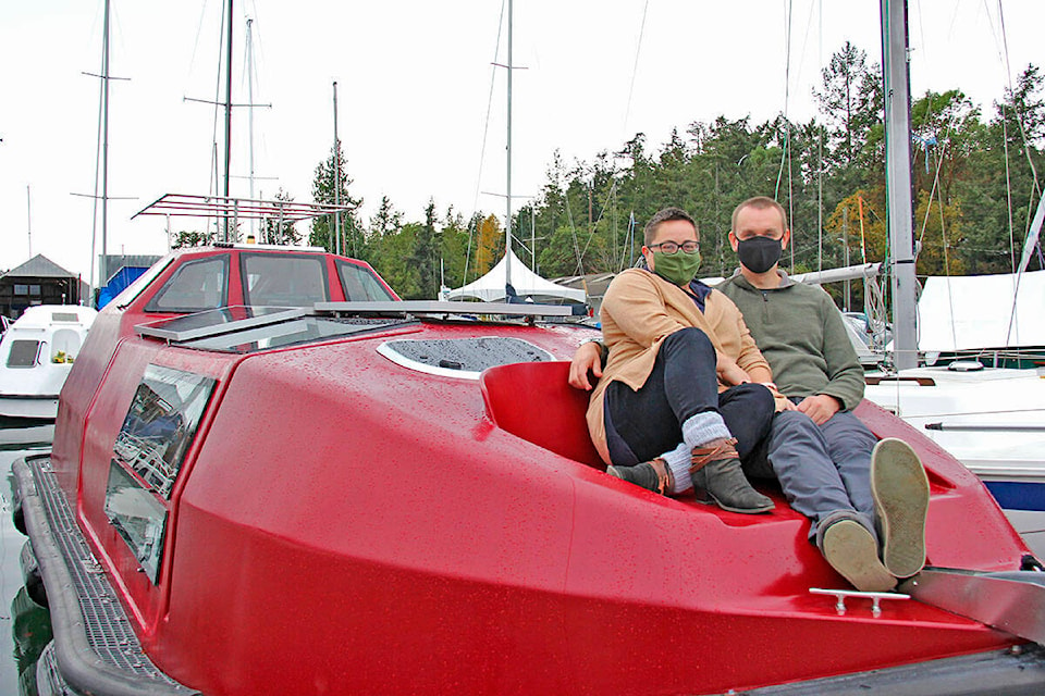
[{"label": "pale overcast white sky above the trees and masts", "polygon": [[[503,214],[503,199],[483,192],[505,188],[505,71],[491,65],[507,61],[503,7],[235,0],[233,101],[248,101],[250,17],[254,101],[272,104],[254,111],[256,195],[282,187],[311,200],[316,165],[333,141],[337,80],[344,169],[349,191],[366,199],[365,217],[383,195],[407,220],[420,220],[430,198],[441,214],[450,206]],[[986,113],[1009,72],[1015,80],[1028,62],[1045,63],[1045,3],[1000,7],[1010,70],[998,0],[911,0],[915,96],[959,87]],[[590,161],[637,132],[655,149],[673,127],[683,133],[720,114],[760,123],[786,111],[807,121],[820,69],[846,40],[882,60],[878,0],[515,0],[514,8],[514,63],[526,67],[513,85],[515,195],[539,190],[556,149],[567,163]],[[111,82],[109,195],[136,200],[109,203],[110,253],[165,252],[165,222],[131,216],[165,192],[212,187],[214,109],[184,98],[218,95],[221,14],[220,0],[112,0],[110,73],[130,80]],[[0,10],[0,269],[29,258],[32,236],[33,254],[89,277],[93,204],[72,194],[95,187],[99,80],[82,73],[100,70],[102,16],[102,0],[7,0]],[[247,109],[235,110],[233,129],[232,171],[246,177]],[[233,195],[248,187],[233,179]]]}]

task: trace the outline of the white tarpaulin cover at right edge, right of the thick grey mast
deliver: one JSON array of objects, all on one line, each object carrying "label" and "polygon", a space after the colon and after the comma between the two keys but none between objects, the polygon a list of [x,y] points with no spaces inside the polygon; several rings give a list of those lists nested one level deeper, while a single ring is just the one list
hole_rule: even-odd
[{"label": "white tarpaulin cover at right edge, right of the thick grey mast", "polygon": [[1045,271],[931,277],[918,301],[918,347],[945,352],[1045,346],[1043,318]]}]

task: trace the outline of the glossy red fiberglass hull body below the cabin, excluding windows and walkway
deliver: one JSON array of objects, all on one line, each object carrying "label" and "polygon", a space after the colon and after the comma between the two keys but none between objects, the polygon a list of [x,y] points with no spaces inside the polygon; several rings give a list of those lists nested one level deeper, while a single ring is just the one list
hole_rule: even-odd
[{"label": "glossy red fiberglass hull body below the cabin, excluding windows and walkway", "polygon": [[[86,419],[79,521],[157,666],[229,696],[717,693],[1017,642],[917,601],[838,616],[809,588],[845,581],[772,485],[776,510],[748,517],[605,475],[576,445],[583,397],[532,388],[564,385],[565,363],[480,384],[378,352],[477,335],[565,359],[591,332],[414,323],[246,356],[120,344]],[[148,365],[217,384],[155,582],[103,505]],[[932,563],[1019,567],[1026,549],[974,476],[889,414],[860,414],[925,460]]]}]

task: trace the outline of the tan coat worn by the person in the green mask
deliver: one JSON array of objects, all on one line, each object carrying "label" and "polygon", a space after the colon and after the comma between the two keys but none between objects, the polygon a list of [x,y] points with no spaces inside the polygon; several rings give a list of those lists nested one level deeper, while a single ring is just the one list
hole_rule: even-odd
[{"label": "tan coat worn by the person in the green mask", "polygon": [[[588,430],[599,455],[607,463],[603,397],[611,382],[638,390],[653,371],[661,341],[680,328],[696,326],[711,339],[715,351],[733,358],[743,370],[770,370],[743,323],[740,310],[718,290],[712,290],[704,312],[686,290],[642,269],[628,269],[606,288],[600,310],[602,335],[610,359],[588,405]],[[720,383],[718,390],[727,387]],[[777,410],[780,407],[777,398]]]}]

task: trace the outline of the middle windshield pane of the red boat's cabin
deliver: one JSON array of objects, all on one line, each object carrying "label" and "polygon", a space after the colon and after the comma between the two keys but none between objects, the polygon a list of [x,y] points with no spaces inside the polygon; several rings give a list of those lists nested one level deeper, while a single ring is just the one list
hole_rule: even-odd
[{"label": "middle windshield pane of the red boat's cabin", "polygon": [[311,307],[330,299],[327,260],[304,253],[241,253],[247,304]]}]

